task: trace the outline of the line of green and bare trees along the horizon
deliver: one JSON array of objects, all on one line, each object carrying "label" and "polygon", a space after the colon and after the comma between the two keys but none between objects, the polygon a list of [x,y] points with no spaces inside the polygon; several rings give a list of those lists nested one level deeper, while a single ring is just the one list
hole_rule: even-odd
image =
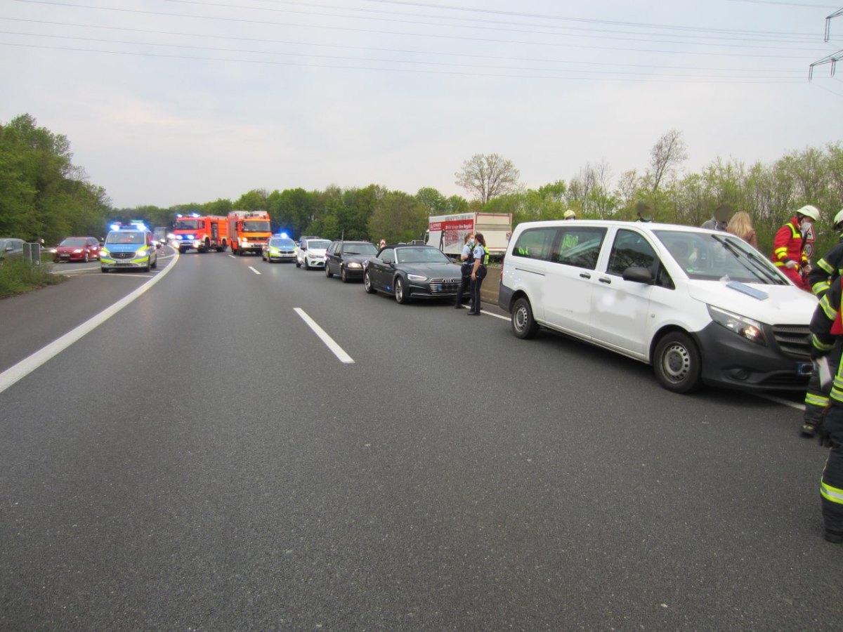
[{"label": "line of green and bare trees along the horizon", "polygon": [[67,138],[20,115],[0,125],[0,237],[43,238],[55,244],[70,234],[102,237],[108,222],[142,219],[169,226],[175,215],[227,215],[233,210],[267,211],[276,232],[336,239],[409,241],[421,236],[429,215],[507,212],[519,222],[559,219],[571,209],[580,218],[632,220],[645,201],[658,222],[700,226],[717,206],[730,204],[753,217],[759,248],[804,204],[823,212],[817,249],[836,241],[830,222],[843,210],[843,145],[793,151],[773,163],[716,158],[685,173],[688,150],[680,131],[668,131],[652,146],[647,166],[615,179],[604,159],[586,163],[571,179],[538,189],[520,185],[515,165],[497,154],[476,154],[454,174],[473,197],[445,196],[432,187],[415,194],[381,185],[325,190],[250,190],[237,200],[219,199],[161,208],[114,208],[105,190],[89,183],[72,164]]}]

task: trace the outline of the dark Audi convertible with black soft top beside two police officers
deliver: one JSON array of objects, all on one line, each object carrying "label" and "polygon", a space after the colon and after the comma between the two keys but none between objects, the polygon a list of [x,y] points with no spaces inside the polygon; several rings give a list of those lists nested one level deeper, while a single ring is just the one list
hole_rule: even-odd
[{"label": "dark Audi convertible with black soft top beside two police officers", "polygon": [[380,249],[363,271],[366,292],[388,292],[401,304],[411,298],[456,297],[461,279],[459,264],[441,250],[410,244]]}]

